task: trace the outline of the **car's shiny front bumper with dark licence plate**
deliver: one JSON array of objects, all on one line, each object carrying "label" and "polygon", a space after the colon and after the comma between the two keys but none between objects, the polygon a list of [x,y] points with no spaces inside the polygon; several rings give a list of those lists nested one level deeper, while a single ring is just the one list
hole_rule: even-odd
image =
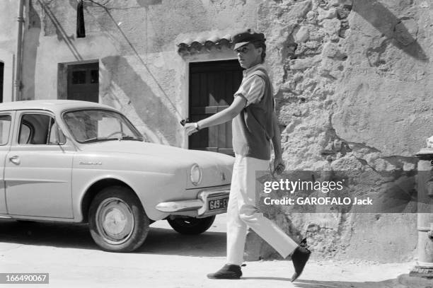
[{"label": "car's shiny front bumper with dark licence plate", "polygon": [[171,215],[209,217],[227,212],[229,193],[230,185],[204,188],[198,192],[197,199],[161,202],[155,208]]}]

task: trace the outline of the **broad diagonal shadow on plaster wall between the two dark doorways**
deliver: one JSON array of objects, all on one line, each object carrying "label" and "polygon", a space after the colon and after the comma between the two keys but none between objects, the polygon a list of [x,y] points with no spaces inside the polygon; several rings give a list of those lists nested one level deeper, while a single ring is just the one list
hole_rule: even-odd
[{"label": "broad diagonal shadow on plaster wall between the two dark doorways", "polygon": [[129,103],[144,124],[153,131],[160,131],[169,144],[175,145],[178,120],[172,111],[166,108],[161,98],[156,96],[151,87],[137,74],[134,67],[129,65],[127,59],[121,56],[109,56],[101,59],[101,62],[110,72],[111,81],[129,98]]}]

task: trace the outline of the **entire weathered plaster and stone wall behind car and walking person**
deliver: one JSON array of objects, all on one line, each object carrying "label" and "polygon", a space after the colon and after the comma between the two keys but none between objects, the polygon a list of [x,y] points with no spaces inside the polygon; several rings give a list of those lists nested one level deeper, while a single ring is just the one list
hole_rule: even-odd
[{"label": "entire weathered plaster and stone wall behind car and walking person", "polygon": [[[16,42],[16,2],[1,0],[10,32],[0,32],[0,52]],[[75,0],[28,0],[23,99],[59,98],[62,67],[97,60],[101,103],[152,142],[187,146],[178,120],[188,64],[236,55],[185,56],[176,45],[256,28],[267,38],[287,167],[405,171],[415,188],[414,154],[433,134],[432,11],[427,0],[95,0],[85,1],[86,38],[75,38]],[[416,246],[415,214],[267,214],[291,236],[308,236],[317,258],[400,261]],[[248,239],[248,259],[277,257]]]}]

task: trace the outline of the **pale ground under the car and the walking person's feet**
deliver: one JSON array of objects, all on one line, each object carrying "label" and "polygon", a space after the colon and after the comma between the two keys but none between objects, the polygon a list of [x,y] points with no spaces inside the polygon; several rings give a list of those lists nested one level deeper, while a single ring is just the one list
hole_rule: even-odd
[{"label": "pale ground under the car and the walking person's feet", "polygon": [[[301,280],[291,283],[290,261],[259,261],[243,267],[241,280],[208,280],[205,275],[224,264],[224,224],[225,216],[217,217],[207,233],[182,236],[160,221],[136,253],[107,253],[96,247],[85,225],[1,220],[0,272],[49,272],[50,284],[37,287],[408,287],[396,277],[413,263],[311,262]],[[0,284],[20,286],[32,287]]]}]

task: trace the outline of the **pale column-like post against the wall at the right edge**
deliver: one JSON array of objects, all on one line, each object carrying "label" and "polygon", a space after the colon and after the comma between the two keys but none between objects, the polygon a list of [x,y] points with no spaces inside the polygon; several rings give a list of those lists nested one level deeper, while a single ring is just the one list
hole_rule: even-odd
[{"label": "pale column-like post against the wall at the right edge", "polygon": [[421,149],[418,162],[418,259],[410,276],[433,277],[433,149]]}]

